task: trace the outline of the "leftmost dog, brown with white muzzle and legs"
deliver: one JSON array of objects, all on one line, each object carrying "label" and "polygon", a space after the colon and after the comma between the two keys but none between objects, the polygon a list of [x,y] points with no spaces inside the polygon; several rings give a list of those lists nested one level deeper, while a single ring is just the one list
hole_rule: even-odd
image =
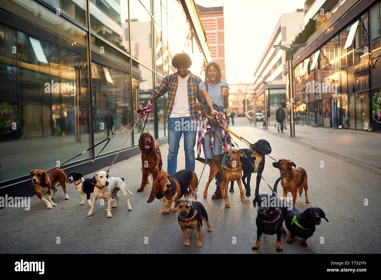
[{"label": "leftmost dog, brown with white muzzle and legs", "polygon": [[[49,170],[48,170],[49,171]],[[69,199],[69,195],[66,192],[66,174],[59,168],[56,168],[49,173],[45,171],[36,169],[30,171],[30,179],[32,179],[34,192],[37,197],[46,203],[48,209],[53,209],[53,206],[57,206],[56,203],[51,201],[56,195],[56,185],[59,183],[65,193],[65,199]],[[53,195],[50,197],[50,190],[53,190]],[[43,195],[48,195],[48,200],[42,197]]]}]

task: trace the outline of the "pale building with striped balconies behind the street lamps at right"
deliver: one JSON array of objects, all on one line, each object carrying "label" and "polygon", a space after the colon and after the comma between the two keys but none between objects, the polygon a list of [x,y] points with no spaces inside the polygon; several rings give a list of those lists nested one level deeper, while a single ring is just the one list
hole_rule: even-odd
[{"label": "pale building with striped balconies behind the street lamps at right", "polygon": [[[256,112],[264,112],[264,82],[267,84],[267,104],[270,116],[275,116],[279,104],[286,105],[286,75],[283,67],[286,54],[274,45],[291,44],[299,32],[303,31],[303,9],[296,9],[293,13],[281,14],[270,40],[254,70],[255,97],[249,102],[255,102]],[[264,77],[264,78],[263,78]]]}]

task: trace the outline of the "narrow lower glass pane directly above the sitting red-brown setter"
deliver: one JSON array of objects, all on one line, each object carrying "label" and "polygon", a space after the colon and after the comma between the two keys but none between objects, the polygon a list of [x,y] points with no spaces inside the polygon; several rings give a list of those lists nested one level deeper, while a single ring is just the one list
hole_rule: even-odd
[{"label": "narrow lower glass pane directly above the sitting red-brown setter", "polygon": [[[152,71],[142,66],[141,64],[134,62],[132,65],[132,99],[134,104],[133,118],[138,116],[136,110],[146,106],[148,98],[151,95],[151,92],[154,90],[153,87],[154,81],[152,77]],[[146,120],[146,117],[144,117],[144,120]],[[144,122],[141,118],[139,118],[138,124],[134,129],[135,146],[138,145],[143,126]],[[148,115],[148,123],[146,125],[146,128],[152,135],[155,135],[154,126],[154,112],[152,112]],[[144,131],[146,131],[146,128],[144,128]]]}]

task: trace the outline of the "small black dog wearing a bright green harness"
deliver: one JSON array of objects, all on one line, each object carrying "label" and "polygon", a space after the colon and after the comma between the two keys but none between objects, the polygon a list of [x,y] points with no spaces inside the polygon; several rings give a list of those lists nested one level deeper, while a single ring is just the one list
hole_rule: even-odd
[{"label": "small black dog wearing a bright green harness", "polygon": [[293,206],[292,211],[286,210],[285,224],[290,230],[290,238],[286,241],[288,244],[294,243],[294,237],[301,237],[301,246],[307,246],[307,238],[311,237],[315,232],[315,225],[320,224],[321,218],[325,219],[323,210],[317,207],[311,207],[301,213],[298,208]]}]

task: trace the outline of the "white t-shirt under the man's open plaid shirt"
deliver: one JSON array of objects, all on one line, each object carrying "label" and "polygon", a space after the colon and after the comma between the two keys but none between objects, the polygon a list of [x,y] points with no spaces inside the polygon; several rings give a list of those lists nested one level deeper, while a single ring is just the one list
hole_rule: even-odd
[{"label": "white t-shirt under the man's open plaid shirt", "polygon": [[179,74],[177,78],[179,80],[177,85],[176,94],[174,95],[173,106],[170,114],[170,118],[190,117],[189,114],[189,102],[188,102],[188,78],[191,73],[186,77],[181,77]]}]

